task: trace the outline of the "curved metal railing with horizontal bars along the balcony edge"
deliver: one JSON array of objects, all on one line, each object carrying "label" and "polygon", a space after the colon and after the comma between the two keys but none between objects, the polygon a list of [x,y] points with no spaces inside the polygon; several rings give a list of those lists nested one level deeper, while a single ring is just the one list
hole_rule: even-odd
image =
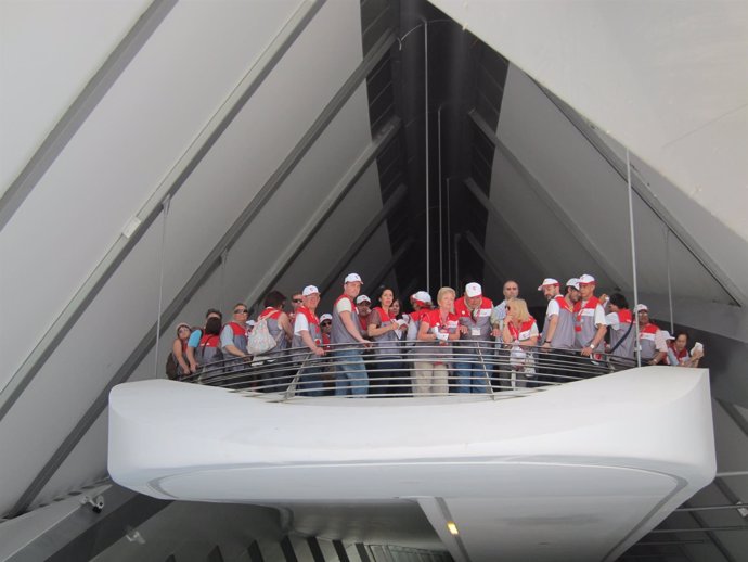
[{"label": "curved metal railing with horizontal bars along the balcony edge", "polygon": [[[378,346],[378,349],[377,349]],[[525,396],[567,382],[636,367],[635,360],[569,349],[518,347],[493,341],[449,346],[402,341],[306,347],[202,366],[184,382],[278,400],[299,397]],[[385,355],[386,353],[386,355]]]}]

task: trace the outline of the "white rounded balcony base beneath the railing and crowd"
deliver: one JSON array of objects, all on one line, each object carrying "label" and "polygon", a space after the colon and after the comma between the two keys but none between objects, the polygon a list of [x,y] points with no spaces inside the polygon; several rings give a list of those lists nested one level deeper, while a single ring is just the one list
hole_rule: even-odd
[{"label": "white rounded balcony base beneath the railing and crowd", "polygon": [[707,371],[670,368],[496,401],[128,383],[111,395],[108,464],[158,498],[420,501],[474,562],[615,560],[715,471]]}]

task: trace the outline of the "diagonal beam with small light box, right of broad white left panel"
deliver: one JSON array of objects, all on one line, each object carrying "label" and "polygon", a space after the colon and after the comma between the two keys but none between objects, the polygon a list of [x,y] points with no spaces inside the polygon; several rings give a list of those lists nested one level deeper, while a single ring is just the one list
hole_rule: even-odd
[{"label": "diagonal beam with small light box, right of broad white left panel", "polygon": [[210,118],[197,139],[190,145],[184,154],[182,154],[179,162],[169,171],[166,178],[164,178],[151,199],[138,212],[136,215],[136,218],[140,221],[138,229],[129,237],[124,234],[119,237],[109,248],[106,256],[104,256],[73,299],[67,304],[62,314],[52,323],[47,333],[44,333],[41,341],[18,368],[8,385],[2,389],[2,393],[0,393],[0,420],[4,418],[18,396],[26,386],[28,386],[54,349],[60,345],[65,334],[67,334],[73,324],[80,318],[91,302],[93,302],[104,284],[106,284],[122,261],[125,261],[132,248],[136,247],[143,234],[162,214],[162,202],[166,197],[173,197],[177,191],[179,191],[188,177],[203,161],[203,157],[205,157],[234,117],[261,86],[265,78],[283,58],[294,40],[304,31],[307,24],[320,10],[322,3],[323,1],[305,2],[288,20],[286,25],[279,31],[273,41],[261,54],[257,63],[244,76],[241,84]]}]

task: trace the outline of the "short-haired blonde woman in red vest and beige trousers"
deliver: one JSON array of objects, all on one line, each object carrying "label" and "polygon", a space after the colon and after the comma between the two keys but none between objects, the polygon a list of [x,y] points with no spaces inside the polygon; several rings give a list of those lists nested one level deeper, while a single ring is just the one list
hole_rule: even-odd
[{"label": "short-haired blonde woman in red vest and beige trousers", "polygon": [[413,371],[413,394],[449,394],[447,371],[452,344],[460,340],[460,322],[454,314],[456,293],[450,286],[442,286],[437,294],[438,307],[421,320],[417,340],[424,345],[416,348],[415,370]]}]

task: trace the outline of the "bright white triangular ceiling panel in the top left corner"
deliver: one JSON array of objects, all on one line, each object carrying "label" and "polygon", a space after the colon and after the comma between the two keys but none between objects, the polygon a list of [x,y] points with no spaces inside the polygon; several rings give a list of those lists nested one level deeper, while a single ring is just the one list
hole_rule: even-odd
[{"label": "bright white triangular ceiling panel in the top left corner", "polygon": [[0,195],[149,3],[0,2]]}]

